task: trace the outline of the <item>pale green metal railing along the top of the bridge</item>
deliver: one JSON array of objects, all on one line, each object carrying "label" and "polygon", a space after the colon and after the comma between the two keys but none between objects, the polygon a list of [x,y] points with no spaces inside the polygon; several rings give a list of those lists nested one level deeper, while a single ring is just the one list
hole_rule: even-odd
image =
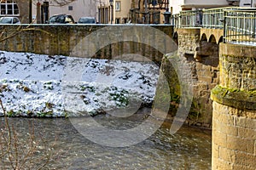
[{"label": "pale green metal railing along the top of the bridge", "polygon": [[256,8],[226,7],[182,11],[172,15],[177,28],[223,29],[224,42],[256,44]]}]

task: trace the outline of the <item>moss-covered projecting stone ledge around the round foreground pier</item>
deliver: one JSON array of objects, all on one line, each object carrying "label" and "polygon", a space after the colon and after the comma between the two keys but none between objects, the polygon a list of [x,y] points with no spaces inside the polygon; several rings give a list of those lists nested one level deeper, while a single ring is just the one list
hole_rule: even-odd
[{"label": "moss-covered projecting stone ledge around the round foreground pier", "polygon": [[241,110],[256,110],[256,90],[241,91],[216,86],[212,89],[211,99],[219,104],[229,105]]}]

